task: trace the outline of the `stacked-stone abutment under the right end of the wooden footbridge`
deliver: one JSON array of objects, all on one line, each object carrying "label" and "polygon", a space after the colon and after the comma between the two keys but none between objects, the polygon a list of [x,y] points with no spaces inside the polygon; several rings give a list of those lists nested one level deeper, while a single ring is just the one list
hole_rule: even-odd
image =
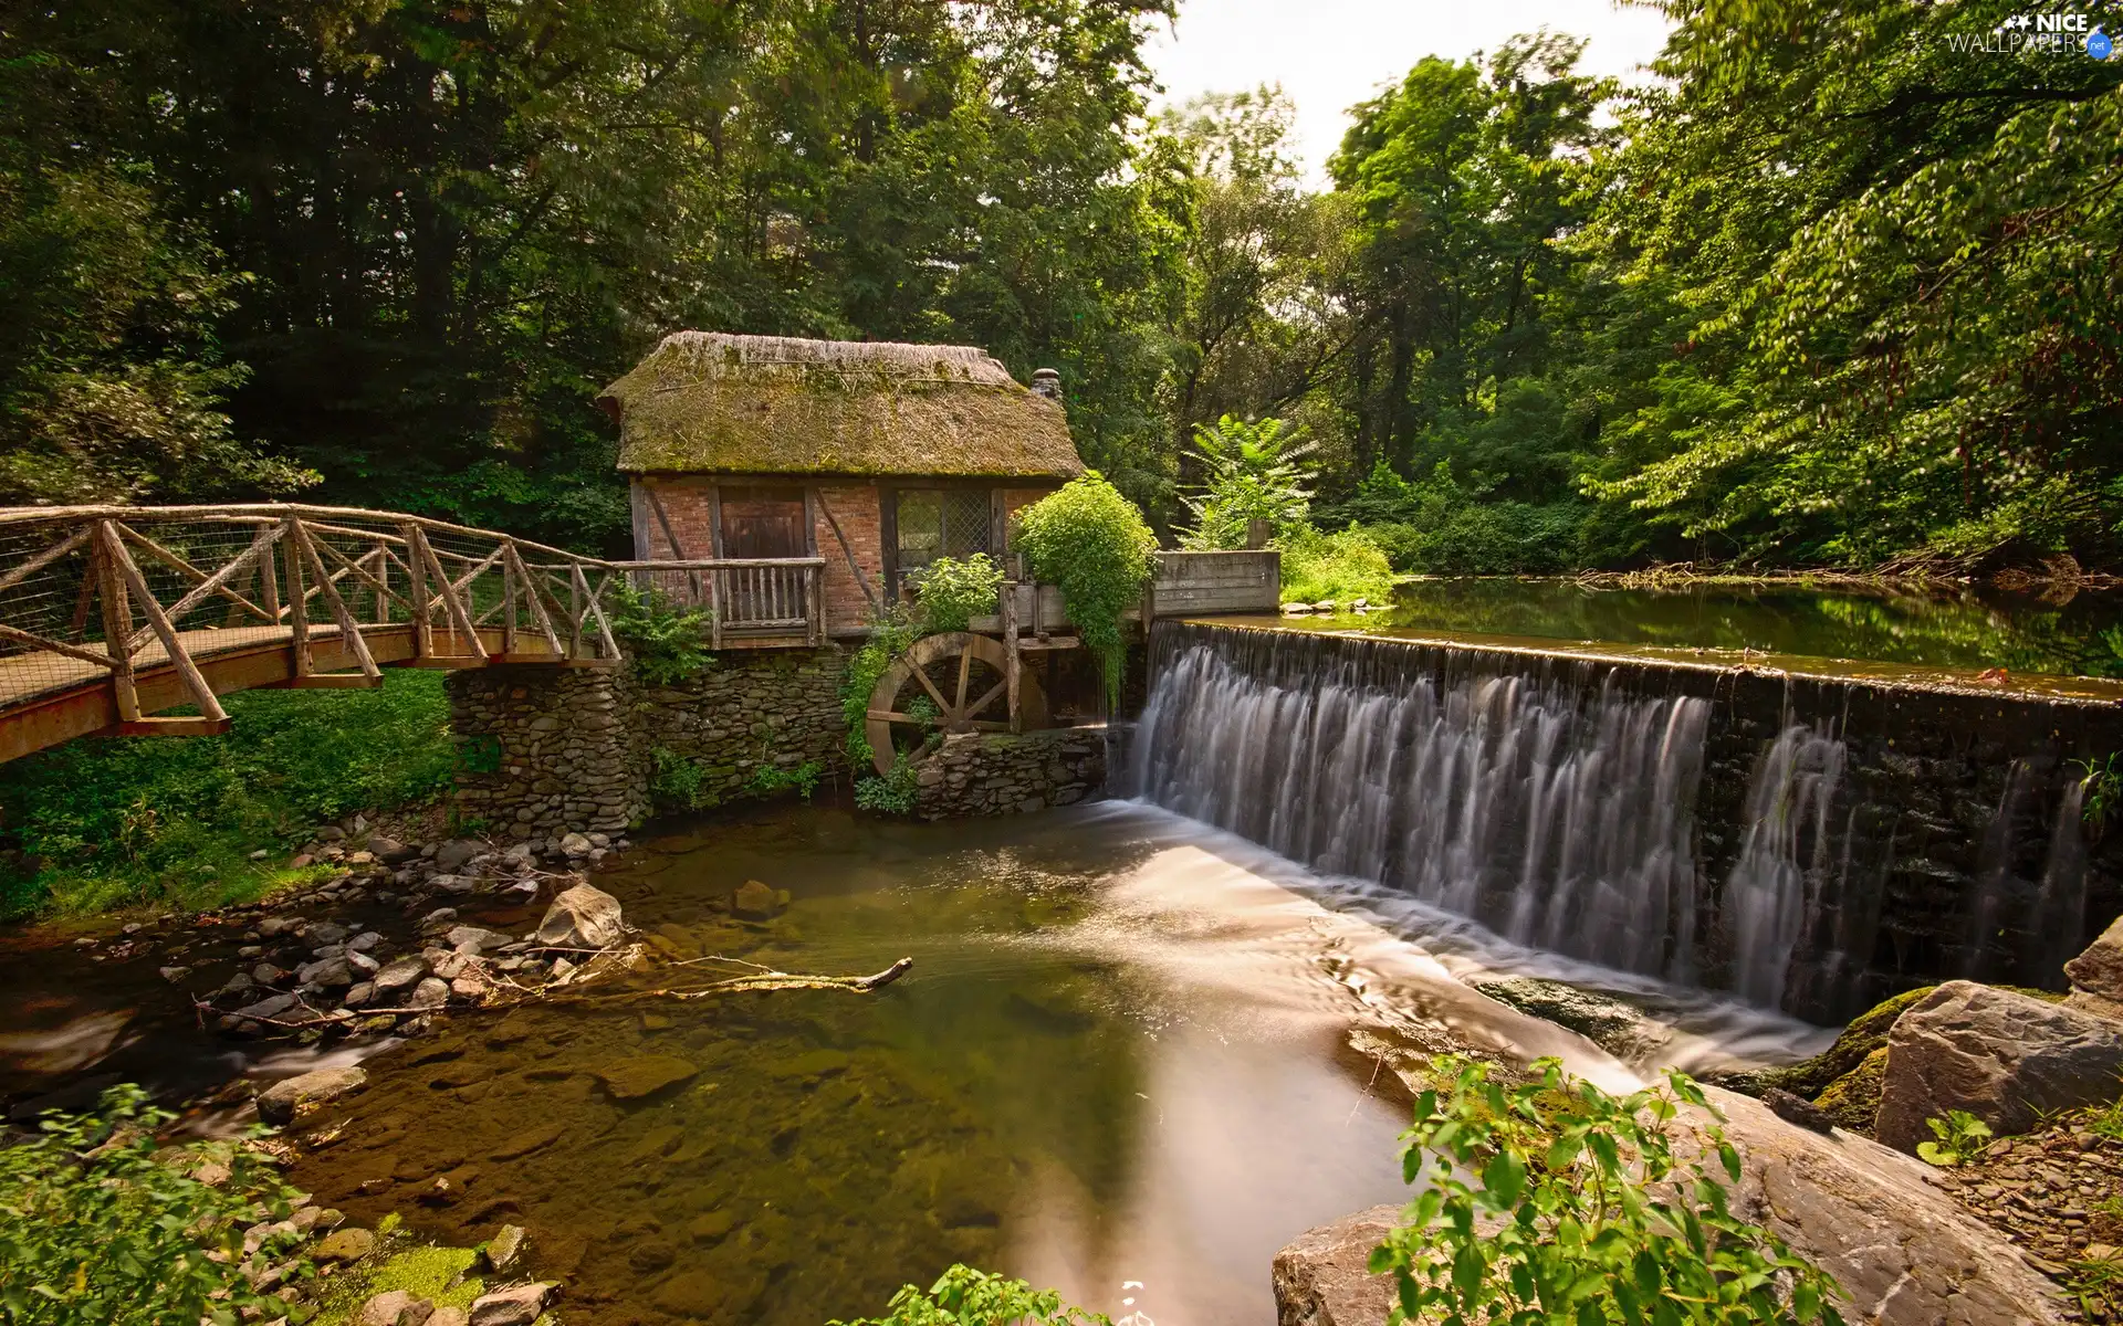
[{"label": "stacked-stone abutment under the right end of the wooden footbridge", "polygon": [[622,675],[495,666],[450,673],[448,690],[465,819],[507,838],[550,838],[624,830],[648,810]]}]

